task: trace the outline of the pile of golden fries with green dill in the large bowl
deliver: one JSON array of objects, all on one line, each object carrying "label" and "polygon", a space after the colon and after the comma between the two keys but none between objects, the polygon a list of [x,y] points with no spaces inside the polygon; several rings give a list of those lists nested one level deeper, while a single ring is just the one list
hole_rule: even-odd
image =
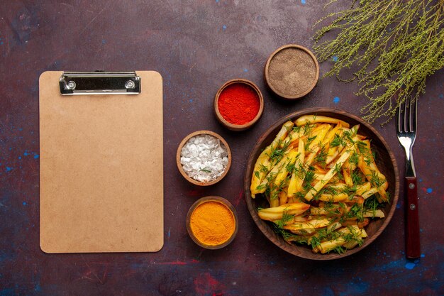
[{"label": "pile of golden fries with green dill in the large bowl", "polygon": [[343,253],[362,244],[371,219],[384,218],[387,178],[377,167],[370,140],[340,119],[306,115],[287,121],[262,151],[252,173],[252,198],[288,243],[315,253]]}]

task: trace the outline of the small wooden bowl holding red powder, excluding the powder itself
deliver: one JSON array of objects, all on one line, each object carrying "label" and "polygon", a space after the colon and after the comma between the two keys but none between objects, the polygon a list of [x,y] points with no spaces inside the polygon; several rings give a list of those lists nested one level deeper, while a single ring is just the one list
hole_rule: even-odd
[{"label": "small wooden bowl holding red powder, excluding the powder itself", "polygon": [[[226,89],[226,87],[228,87],[228,85],[235,84],[235,83],[242,83],[242,84],[248,85],[256,92],[257,97],[259,97],[259,104],[260,104],[259,111],[257,111],[255,118],[253,118],[247,124],[231,124],[230,122],[226,121],[226,119],[224,119],[223,116],[221,115],[221,112],[219,112],[218,102],[219,102],[219,96],[221,95],[221,92],[223,92],[223,89]],[[228,128],[231,131],[245,131],[246,129],[250,128],[253,124],[256,123],[256,121],[258,121],[260,119],[260,116],[262,115],[262,112],[264,111],[264,97],[262,97],[262,93],[260,92],[259,87],[257,87],[257,85],[254,84],[253,82],[251,82],[250,80],[245,80],[245,79],[240,79],[240,78],[234,79],[234,80],[229,80],[229,81],[225,82],[221,86],[221,88],[219,88],[218,91],[216,92],[216,96],[214,97],[213,108],[214,108],[214,114],[216,114],[216,118],[223,126],[225,126],[226,128]]]}]

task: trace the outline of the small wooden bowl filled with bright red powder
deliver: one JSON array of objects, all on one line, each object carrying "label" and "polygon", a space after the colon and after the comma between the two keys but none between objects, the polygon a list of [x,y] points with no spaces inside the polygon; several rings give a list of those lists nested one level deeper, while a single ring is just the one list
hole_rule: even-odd
[{"label": "small wooden bowl filled with bright red powder", "polygon": [[219,122],[231,131],[244,131],[260,119],[264,98],[250,80],[229,80],[214,97],[214,113]]}]

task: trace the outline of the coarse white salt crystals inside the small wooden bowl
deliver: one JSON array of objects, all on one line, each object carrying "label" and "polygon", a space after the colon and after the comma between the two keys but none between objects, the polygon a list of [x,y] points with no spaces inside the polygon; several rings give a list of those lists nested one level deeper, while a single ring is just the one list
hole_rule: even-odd
[{"label": "coarse white salt crystals inside the small wooden bowl", "polygon": [[199,182],[210,182],[220,177],[228,165],[228,152],[221,141],[211,135],[190,138],[180,152],[184,171]]}]

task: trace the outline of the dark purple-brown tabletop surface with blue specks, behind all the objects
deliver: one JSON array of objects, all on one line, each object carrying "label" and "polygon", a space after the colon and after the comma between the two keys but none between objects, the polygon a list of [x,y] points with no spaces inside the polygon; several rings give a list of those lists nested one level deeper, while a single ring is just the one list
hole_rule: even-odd
[{"label": "dark purple-brown tabletop surface with blue specks, behind all the objects", "polygon": [[[336,261],[292,256],[253,223],[243,197],[248,155],[268,126],[292,111],[323,106],[360,114],[355,84],[320,80],[304,99],[277,100],[265,87],[268,55],[287,43],[312,48],[312,26],[348,1],[1,1],[0,295],[443,295],[443,78],[428,79],[414,147],[422,255],[404,254],[404,190],[387,229]],[[321,64],[321,75],[331,62]],[[38,77],[46,70],[157,70],[164,80],[165,246],[158,253],[48,255],[39,248]],[[248,131],[223,128],[213,95],[226,80],[257,83],[265,111]],[[404,174],[394,121],[375,124]],[[179,174],[175,152],[188,133],[209,129],[231,146],[233,165],[207,188]],[[196,246],[185,216],[216,194],[238,212],[230,246]]]}]

